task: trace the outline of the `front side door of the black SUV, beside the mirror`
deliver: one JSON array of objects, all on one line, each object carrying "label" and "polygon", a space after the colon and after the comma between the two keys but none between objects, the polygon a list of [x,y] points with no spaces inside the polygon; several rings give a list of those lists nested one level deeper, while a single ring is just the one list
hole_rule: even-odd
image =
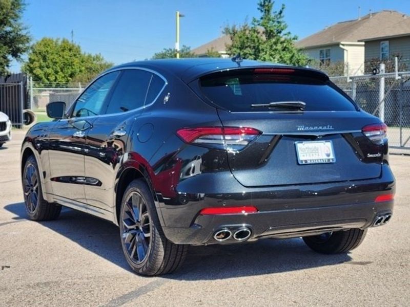
[{"label": "front side door of the black SUV, beside the mirror", "polygon": [[58,120],[49,136],[49,163],[54,199],[86,210],[84,155],[86,136],[101,112],[119,72],[94,81],[74,102],[68,118]]}]

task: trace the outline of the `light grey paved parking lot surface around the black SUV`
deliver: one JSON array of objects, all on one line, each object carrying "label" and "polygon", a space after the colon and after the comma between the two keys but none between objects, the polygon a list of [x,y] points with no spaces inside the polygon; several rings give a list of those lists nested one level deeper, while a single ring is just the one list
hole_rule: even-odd
[{"label": "light grey paved parking lot surface around the black SUV", "polygon": [[370,229],[347,255],[319,255],[301,239],[192,247],[179,272],[139,277],[116,226],[64,209],[27,220],[20,184],[24,133],[0,149],[1,306],[408,306],[410,157],[391,156],[391,223]]}]

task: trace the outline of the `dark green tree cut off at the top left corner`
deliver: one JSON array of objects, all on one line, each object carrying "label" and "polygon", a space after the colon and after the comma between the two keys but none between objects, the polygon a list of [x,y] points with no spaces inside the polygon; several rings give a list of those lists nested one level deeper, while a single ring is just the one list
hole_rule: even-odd
[{"label": "dark green tree cut off at the top left corner", "polygon": [[0,0],[0,76],[29,49],[30,36],[20,21],[24,7],[23,0]]}]

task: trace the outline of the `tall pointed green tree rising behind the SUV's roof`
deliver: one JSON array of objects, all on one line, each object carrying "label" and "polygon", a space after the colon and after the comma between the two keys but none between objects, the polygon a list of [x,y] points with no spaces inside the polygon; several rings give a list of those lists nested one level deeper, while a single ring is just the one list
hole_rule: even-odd
[{"label": "tall pointed green tree rising behind the SUV's roof", "polygon": [[240,26],[224,29],[232,43],[227,46],[231,55],[240,54],[243,58],[278,62],[292,65],[306,65],[308,57],[295,47],[296,35],[292,35],[284,21],[282,5],[273,11],[273,0],[259,0],[259,18],[252,18],[249,24],[245,21]]}]

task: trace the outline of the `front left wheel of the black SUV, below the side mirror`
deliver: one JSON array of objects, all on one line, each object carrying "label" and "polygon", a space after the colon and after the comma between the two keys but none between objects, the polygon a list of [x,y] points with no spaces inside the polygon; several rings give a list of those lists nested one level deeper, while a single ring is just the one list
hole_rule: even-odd
[{"label": "front left wheel of the black SUV, below the side mirror", "polygon": [[41,177],[39,176],[37,161],[30,156],[24,166],[23,192],[26,212],[33,221],[55,220],[61,211],[61,206],[48,203],[43,198]]}]

